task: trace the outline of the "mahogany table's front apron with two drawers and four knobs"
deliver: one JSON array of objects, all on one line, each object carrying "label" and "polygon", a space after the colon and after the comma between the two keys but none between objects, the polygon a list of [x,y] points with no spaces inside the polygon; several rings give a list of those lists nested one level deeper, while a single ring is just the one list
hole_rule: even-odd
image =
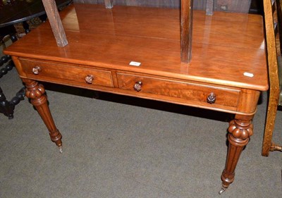
[{"label": "mahogany table's front apron with two drawers and four knobs", "polygon": [[[259,98],[259,91],[238,87],[53,61],[13,59],[16,60],[16,68],[20,78],[166,101],[227,113],[252,115],[256,111]],[[135,86],[140,86],[140,90],[136,89]],[[214,101],[209,101],[209,97],[214,97]]]}]

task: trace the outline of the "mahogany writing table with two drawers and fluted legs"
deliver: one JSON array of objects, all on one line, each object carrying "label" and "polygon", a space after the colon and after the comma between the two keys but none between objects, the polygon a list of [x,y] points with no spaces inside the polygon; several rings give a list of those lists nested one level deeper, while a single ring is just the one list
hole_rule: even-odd
[{"label": "mahogany writing table with two drawers and fluted legs", "polygon": [[37,81],[234,113],[225,189],[253,133],[259,94],[268,89],[263,21],[243,13],[193,15],[190,63],[180,61],[179,10],[169,8],[75,4],[61,12],[66,47],[56,45],[45,23],[4,52],[59,147],[61,133]]}]

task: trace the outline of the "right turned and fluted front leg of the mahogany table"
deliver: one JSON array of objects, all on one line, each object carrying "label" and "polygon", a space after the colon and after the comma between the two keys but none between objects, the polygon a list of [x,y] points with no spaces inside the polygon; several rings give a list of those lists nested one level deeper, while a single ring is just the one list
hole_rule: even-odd
[{"label": "right turned and fluted front leg of the mahogany table", "polygon": [[219,194],[222,194],[234,180],[235,168],[240,154],[252,135],[252,117],[236,115],[235,120],[231,120],[229,123],[228,153],[226,166],[221,175],[222,189],[219,191]]}]

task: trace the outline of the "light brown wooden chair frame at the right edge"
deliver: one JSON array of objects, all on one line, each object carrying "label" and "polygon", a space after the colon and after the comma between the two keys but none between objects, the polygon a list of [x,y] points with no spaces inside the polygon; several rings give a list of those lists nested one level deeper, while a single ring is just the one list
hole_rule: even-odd
[{"label": "light brown wooden chair frame at the right edge", "polygon": [[281,85],[279,85],[278,72],[278,56],[281,56],[278,29],[278,20],[281,20],[281,2],[279,0],[264,0],[264,20],[266,27],[266,46],[270,89],[266,125],[264,130],[264,142],[262,145],[262,155],[269,156],[269,151],[282,151],[281,146],[275,144],[274,142],[271,142],[272,134],[274,131],[277,106],[279,104],[279,95],[281,94]]}]

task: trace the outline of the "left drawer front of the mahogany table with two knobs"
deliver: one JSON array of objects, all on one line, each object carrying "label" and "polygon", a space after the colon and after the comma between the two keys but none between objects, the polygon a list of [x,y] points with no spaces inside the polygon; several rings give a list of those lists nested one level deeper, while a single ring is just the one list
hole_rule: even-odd
[{"label": "left drawer front of the mahogany table with two knobs", "polygon": [[23,72],[28,78],[36,78],[39,80],[56,81],[62,80],[62,82],[80,82],[80,85],[102,85],[106,87],[114,87],[113,80],[111,78],[111,72],[107,70],[99,70],[92,68],[82,68],[79,66],[64,65],[49,62],[31,61],[26,59],[20,59],[20,63],[23,67]]}]

